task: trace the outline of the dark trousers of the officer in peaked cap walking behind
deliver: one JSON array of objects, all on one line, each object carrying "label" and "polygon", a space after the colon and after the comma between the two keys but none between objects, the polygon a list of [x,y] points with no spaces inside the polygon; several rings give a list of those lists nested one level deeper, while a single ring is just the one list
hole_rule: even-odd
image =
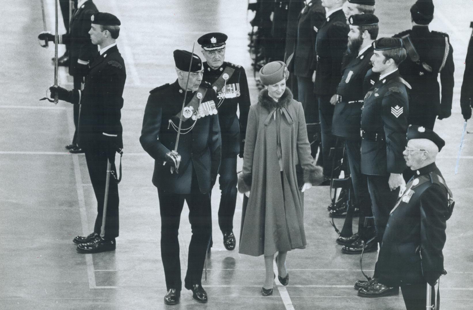
[{"label": "dark trousers of the officer in peaked cap walking behind", "polygon": [[219,227],[222,233],[233,231],[233,216],[236,205],[236,156],[222,157],[219,168],[220,206]]}]

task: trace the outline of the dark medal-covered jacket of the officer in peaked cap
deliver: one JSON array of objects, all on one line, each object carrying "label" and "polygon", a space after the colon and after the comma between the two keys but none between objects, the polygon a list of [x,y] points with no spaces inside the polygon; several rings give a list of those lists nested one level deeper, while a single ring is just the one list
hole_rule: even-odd
[{"label": "dark medal-covered jacket of the officer in peaked cap", "polygon": [[[219,122],[222,132],[222,157],[233,157],[240,153],[240,141],[245,139],[246,122],[248,121],[248,111],[250,110],[250,92],[246,80],[245,69],[225,61],[221,67],[213,70],[205,61],[203,63],[203,81],[213,84],[226,67],[235,69],[233,75],[227,80],[225,91],[217,90],[216,103],[221,101],[219,106]],[[240,118],[236,116],[236,109],[240,109]]]}]

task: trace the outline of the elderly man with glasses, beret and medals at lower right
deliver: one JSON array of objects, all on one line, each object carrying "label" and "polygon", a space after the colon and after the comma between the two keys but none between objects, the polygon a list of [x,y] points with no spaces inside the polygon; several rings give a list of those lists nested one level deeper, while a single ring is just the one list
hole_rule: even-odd
[{"label": "elderly man with glasses, beret and medals at lower right", "polygon": [[[400,285],[406,309],[423,310],[427,284],[434,286],[445,274],[442,249],[454,202],[435,165],[445,141],[429,128],[413,125],[407,130],[407,140],[403,154],[414,176],[399,193],[389,216],[377,262],[378,282],[379,286]],[[361,296],[372,294],[377,294],[377,287],[359,289]]]}]

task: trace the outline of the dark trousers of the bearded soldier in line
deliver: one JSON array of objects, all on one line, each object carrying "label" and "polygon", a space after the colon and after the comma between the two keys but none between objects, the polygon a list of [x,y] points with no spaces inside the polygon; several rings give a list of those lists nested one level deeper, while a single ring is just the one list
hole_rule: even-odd
[{"label": "dark trousers of the bearded soldier in line", "polygon": [[365,235],[361,228],[365,224],[365,218],[373,217],[371,199],[368,192],[368,177],[361,174],[361,139],[345,139],[345,151],[350,166],[351,183],[355,192],[356,205],[360,210],[358,232],[363,240],[367,241],[372,236]]}]

